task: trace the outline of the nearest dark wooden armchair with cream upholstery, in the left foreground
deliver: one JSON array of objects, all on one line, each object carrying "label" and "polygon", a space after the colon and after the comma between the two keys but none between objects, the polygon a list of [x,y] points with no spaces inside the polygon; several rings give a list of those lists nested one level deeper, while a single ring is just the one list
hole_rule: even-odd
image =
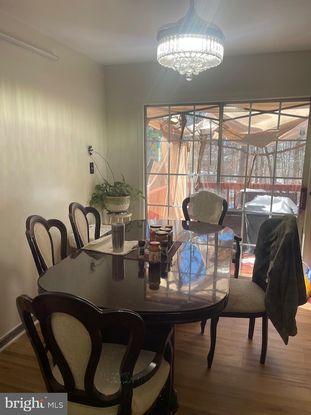
[{"label": "nearest dark wooden armchair with cream upholstery, in the left foreground", "polygon": [[[149,351],[142,349],[143,320],[130,310],[102,310],[60,292],[34,299],[21,295],[17,309],[47,392],[68,394],[69,415],[150,414],[157,402],[162,404],[159,413],[168,414],[173,327],[163,326]],[[32,315],[40,323],[46,347]],[[124,341],[105,343],[106,330],[126,334]]]}]

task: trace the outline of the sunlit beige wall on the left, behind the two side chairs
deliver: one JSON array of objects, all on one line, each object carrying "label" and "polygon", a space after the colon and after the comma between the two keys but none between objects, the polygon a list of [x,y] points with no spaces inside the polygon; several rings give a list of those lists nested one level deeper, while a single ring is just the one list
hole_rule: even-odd
[{"label": "sunlit beige wall on the left, behind the two side chairs", "polygon": [[87,145],[105,150],[104,68],[0,15],[10,36],[59,56],[57,62],[0,40],[0,339],[19,323],[15,300],[36,295],[25,236],[29,215],[61,219],[87,204],[96,175]]}]

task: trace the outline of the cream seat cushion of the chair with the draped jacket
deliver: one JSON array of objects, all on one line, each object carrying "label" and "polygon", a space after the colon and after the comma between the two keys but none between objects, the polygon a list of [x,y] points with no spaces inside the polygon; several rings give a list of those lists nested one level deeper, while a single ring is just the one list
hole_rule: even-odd
[{"label": "cream seat cushion of the chair with the draped jacket", "polygon": [[263,312],[265,311],[264,298],[264,290],[253,281],[230,278],[228,304],[223,312]]}]

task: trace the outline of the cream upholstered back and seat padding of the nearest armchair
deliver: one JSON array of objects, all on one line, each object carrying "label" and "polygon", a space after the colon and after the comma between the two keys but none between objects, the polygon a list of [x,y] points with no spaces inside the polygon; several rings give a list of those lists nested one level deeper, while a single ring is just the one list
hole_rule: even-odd
[{"label": "cream upholstered back and seat padding of the nearest armchair", "polygon": [[[76,387],[84,390],[84,374],[91,353],[91,343],[85,327],[75,318],[64,313],[53,313],[51,318],[52,330],[56,342],[66,357],[73,373]],[[111,395],[120,388],[119,368],[126,346],[122,344],[103,343],[102,354],[94,377],[96,388],[103,394]],[[134,374],[146,368],[155,356],[154,352],[141,350],[134,368]],[[133,390],[132,415],[144,414],[158,397],[169,376],[170,364],[163,359],[155,375],[146,383]],[[53,376],[64,384],[57,366]],[[110,408],[95,408],[68,402],[68,414],[72,415],[117,415],[118,406]]]}]

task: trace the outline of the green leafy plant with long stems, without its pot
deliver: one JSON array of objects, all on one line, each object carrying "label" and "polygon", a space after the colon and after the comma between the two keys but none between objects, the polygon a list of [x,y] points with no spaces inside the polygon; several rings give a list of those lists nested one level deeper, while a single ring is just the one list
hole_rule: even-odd
[{"label": "green leafy plant with long stems, without its pot", "polygon": [[[104,203],[104,197],[105,196],[112,196],[112,197],[118,197],[118,196],[130,196],[132,200],[137,200],[138,198],[143,198],[145,200],[145,197],[142,194],[141,190],[134,190],[131,185],[126,183],[124,176],[121,174],[122,180],[116,181],[114,174],[111,170],[111,167],[109,163],[107,162],[107,158],[104,158],[100,153],[92,149],[92,146],[88,146],[88,153],[92,157],[93,153],[98,154],[105,162],[106,166],[106,179],[101,174],[96,162],[94,161],[93,157],[92,160],[94,164],[96,165],[100,175],[102,176],[103,182],[100,184],[95,185],[95,192],[92,193],[92,197],[89,201],[90,206],[103,206],[104,209],[106,208]],[[108,181],[108,172],[110,172],[112,176],[112,181]]]}]

